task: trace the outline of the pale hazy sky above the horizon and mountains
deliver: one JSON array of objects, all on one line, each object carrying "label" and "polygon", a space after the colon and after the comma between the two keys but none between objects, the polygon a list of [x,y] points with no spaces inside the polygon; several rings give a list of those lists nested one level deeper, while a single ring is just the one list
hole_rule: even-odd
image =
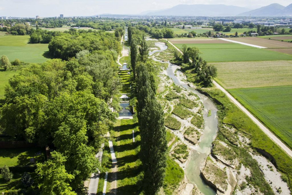
[{"label": "pale hazy sky above the horizon and mountains", "polygon": [[178,4],[225,4],[259,8],[272,3],[287,6],[291,0],[0,0],[0,16],[90,16],[102,13],[138,14]]}]

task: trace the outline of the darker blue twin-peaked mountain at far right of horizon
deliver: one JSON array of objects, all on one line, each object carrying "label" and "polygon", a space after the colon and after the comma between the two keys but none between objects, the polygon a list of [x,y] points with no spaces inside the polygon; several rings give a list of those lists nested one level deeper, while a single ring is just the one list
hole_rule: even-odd
[{"label": "darker blue twin-peaked mountain at far right of horizon", "polygon": [[280,4],[270,4],[252,11],[238,14],[237,16],[283,16],[292,15],[292,4],[287,7]]}]

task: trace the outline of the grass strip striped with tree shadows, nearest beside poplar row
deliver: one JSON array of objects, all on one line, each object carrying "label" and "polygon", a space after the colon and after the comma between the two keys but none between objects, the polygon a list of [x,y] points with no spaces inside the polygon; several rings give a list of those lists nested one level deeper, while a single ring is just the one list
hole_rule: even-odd
[{"label": "grass strip striped with tree shadows, nearest beside poplar row", "polygon": [[[135,134],[134,143],[132,130]],[[141,139],[137,119],[117,120],[114,125],[113,138],[119,171],[117,194],[139,194],[142,165],[138,155]]]}]

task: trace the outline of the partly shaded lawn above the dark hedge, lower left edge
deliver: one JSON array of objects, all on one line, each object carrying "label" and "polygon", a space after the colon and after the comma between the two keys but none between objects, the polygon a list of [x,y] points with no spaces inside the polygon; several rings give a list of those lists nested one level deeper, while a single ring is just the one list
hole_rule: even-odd
[{"label": "partly shaded lawn above the dark hedge, lower left edge", "polygon": [[35,153],[41,151],[41,148],[17,148],[17,149],[0,149],[0,167],[26,165],[30,158],[35,158],[36,162],[44,161],[44,154],[35,156]]}]

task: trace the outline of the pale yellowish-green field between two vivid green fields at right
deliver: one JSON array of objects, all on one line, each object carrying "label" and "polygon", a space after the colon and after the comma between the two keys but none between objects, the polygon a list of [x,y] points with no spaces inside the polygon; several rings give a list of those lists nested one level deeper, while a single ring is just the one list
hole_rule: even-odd
[{"label": "pale yellowish-green field between two vivid green fields at right", "polygon": [[211,64],[218,69],[216,81],[225,89],[292,85],[291,60]]}]

